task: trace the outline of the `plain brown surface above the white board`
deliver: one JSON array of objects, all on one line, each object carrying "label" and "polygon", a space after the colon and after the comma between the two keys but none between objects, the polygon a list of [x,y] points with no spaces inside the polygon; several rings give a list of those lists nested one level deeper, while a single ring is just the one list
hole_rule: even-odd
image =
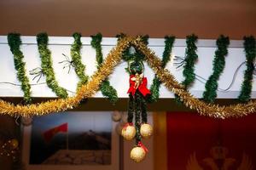
[{"label": "plain brown surface above the white board", "polygon": [[241,39],[256,36],[255,0],[1,0],[0,35],[10,31],[36,35],[83,36],[102,32],[114,37],[119,32],[201,38],[219,34]]}]

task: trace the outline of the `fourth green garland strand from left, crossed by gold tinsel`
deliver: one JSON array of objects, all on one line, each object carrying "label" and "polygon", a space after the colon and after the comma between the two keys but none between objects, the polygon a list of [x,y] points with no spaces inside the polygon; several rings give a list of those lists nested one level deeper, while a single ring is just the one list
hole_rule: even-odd
[{"label": "fourth green garland strand from left, crossed by gold tinsel", "polygon": [[[102,66],[103,62],[103,55],[102,55],[102,34],[98,33],[95,36],[91,36],[91,46],[96,49],[96,61],[97,61],[97,68],[99,69]],[[116,89],[113,88],[113,86],[110,85],[110,82],[108,79],[102,82],[102,85],[100,87],[103,96],[108,97],[111,103],[115,104],[117,102],[118,95],[116,92]]]}]

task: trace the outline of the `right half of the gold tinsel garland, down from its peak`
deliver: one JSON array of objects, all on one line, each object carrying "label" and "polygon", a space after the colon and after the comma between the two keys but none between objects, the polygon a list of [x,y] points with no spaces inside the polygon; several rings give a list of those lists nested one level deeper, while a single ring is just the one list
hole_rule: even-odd
[{"label": "right half of the gold tinsel garland, down from its peak", "polygon": [[199,112],[203,116],[210,116],[215,118],[229,118],[229,117],[241,117],[246,116],[250,113],[256,111],[256,102],[249,101],[247,105],[237,104],[229,106],[218,106],[212,104],[206,104],[200,99],[196,99],[189,94],[182,84],[178,83],[175,77],[168,70],[161,69],[161,62],[154,52],[152,52],[143,43],[139,43],[136,40],[132,41],[133,44],[137,44],[137,48],[140,49],[146,56],[148,65],[156,73],[160,81],[163,82],[169,90],[174,94],[177,94],[179,98],[183,101],[183,104]]}]

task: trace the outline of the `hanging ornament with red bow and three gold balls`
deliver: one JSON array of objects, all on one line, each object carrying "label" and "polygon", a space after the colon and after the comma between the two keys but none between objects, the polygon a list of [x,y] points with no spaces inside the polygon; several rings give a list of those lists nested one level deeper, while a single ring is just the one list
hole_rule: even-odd
[{"label": "hanging ornament with red bow and three gold balls", "polygon": [[[142,143],[142,135],[145,139],[152,134],[152,127],[148,124],[147,103],[146,98],[150,94],[147,88],[148,80],[143,75],[143,62],[137,59],[132,59],[128,63],[128,70],[130,72],[130,88],[129,106],[127,123],[122,129],[122,136],[125,139],[131,140],[135,137],[136,146],[131,150],[131,159],[139,162],[143,161],[148,149]],[[133,126],[133,116],[135,116],[135,123]],[[142,128],[141,128],[142,125]],[[128,127],[130,128],[128,131]]]}]

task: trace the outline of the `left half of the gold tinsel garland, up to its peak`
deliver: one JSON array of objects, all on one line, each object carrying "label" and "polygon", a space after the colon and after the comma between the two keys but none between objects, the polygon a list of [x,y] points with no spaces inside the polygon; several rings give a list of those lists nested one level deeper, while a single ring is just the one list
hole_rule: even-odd
[{"label": "left half of the gold tinsel garland, up to its peak", "polygon": [[82,85],[75,96],[67,99],[51,99],[32,105],[14,105],[0,99],[0,113],[9,116],[43,116],[53,112],[73,109],[73,107],[79,105],[82,99],[87,99],[96,94],[102,81],[113,72],[114,66],[119,64],[121,60],[121,54],[130,44],[131,37],[126,37],[118,42],[117,46],[109,52],[102,67],[91,77],[91,81]]}]

